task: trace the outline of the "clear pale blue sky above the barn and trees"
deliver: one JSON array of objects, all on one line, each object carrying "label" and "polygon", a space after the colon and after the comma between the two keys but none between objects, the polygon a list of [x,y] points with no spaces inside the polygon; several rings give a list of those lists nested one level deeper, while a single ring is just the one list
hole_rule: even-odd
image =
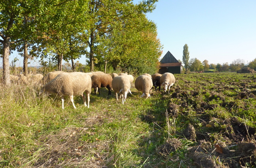
[{"label": "clear pale blue sky above the barn and trees", "polygon": [[[230,64],[236,59],[247,64],[256,58],[256,0],[159,0],[147,17],[157,24],[161,58],[170,51],[182,60],[185,44],[190,59],[209,64]],[[10,56],[10,63],[14,57],[23,66],[17,53]],[[85,64],[84,59],[79,62]]]}]

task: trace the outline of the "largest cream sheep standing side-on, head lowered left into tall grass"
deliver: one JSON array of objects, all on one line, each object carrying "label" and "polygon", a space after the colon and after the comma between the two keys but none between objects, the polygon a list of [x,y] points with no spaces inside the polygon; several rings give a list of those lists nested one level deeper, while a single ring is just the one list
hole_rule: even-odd
[{"label": "largest cream sheep standing side-on, head lowered left into tall grass", "polygon": [[76,109],[74,104],[74,96],[81,95],[83,98],[83,103],[86,104],[87,95],[88,108],[90,103],[90,93],[91,93],[91,77],[83,72],[71,72],[71,73],[60,73],[53,80],[46,83],[40,90],[39,95],[42,92],[57,93],[61,97],[62,109],[64,109],[64,96],[69,96],[73,107]]}]

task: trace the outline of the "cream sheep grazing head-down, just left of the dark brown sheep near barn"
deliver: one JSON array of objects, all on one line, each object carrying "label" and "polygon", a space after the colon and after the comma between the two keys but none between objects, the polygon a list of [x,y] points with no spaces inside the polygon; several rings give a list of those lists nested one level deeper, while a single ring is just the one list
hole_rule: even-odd
[{"label": "cream sheep grazing head-down, just left of the dark brown sheep near barn", "polygon": [[150,90],[152,87],[152,79],[147,75],[140,75],[135,80],[135,88],[142,92],[142,96],[140,97],[145,97],[146,99],[150,97]]}]

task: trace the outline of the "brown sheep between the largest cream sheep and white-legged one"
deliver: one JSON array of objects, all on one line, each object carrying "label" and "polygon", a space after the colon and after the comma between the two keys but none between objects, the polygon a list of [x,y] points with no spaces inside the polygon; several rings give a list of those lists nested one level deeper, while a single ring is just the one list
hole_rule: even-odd
[{"label": "brown sheep between the largest cream sheep and white-legged one", "polygon": [[94,93],[96,95],[96,92],[99,91],[101,87],[106,87],[109,89],[108,95],[111,95],[111,89],[112,89],[112,77],[111,75],[104,73],[104,74],[95,74],[91,76],[91,87],[94,88]]}]

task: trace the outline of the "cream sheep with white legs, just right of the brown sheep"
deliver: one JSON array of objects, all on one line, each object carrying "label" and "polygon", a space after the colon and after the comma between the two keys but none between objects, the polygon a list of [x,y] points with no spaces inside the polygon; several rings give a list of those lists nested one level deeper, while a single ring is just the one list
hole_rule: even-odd
[{"label": "cream sheep with white legs, just right of the brown sheep", "polygon": [[117,95],[121,93],[120,97],[122,97],[122,104],[124,104],[124,101],[127,97],[128,92],[132,94],[130,88],[131,83],[127,76],[116,76],[112,80],[112,88],[114,92],[116,93],[116,100],[118,100]]}]

